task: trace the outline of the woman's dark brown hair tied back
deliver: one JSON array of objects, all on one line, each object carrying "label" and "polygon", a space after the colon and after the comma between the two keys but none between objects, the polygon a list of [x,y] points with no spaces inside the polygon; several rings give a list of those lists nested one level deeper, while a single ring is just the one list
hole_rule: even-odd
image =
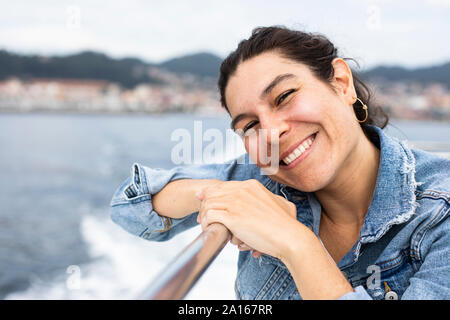
[{"label": "woman's dark brown hair tied back", "polygon": [[[287,59],[305,64],[319,80],[331,85],[334,76],[331,62],[338,57],[338,50],[325,36],[291,30],[284,26],[255,28],[250,38],[242,40],[237,49],[231,52],[220,66],[218,80],[220,102],[228,113],[230,111],[225,99],[225,90],[229,78],[241,62],[267,51],[280,52]],[[343,59],[356,62],[351,58]],[[371,90],[354,70],[352,75],[356,94],[367,105],[369,111],[368,118],[361,123],[361,127],[366,135],[371,136],[372,132],[368,130],[367,125],[384,128],[389,118],[380,106],[373,103]],[[364,119],[365,112],[358,101],[353,105],[353,110],[358,119]]]}]

